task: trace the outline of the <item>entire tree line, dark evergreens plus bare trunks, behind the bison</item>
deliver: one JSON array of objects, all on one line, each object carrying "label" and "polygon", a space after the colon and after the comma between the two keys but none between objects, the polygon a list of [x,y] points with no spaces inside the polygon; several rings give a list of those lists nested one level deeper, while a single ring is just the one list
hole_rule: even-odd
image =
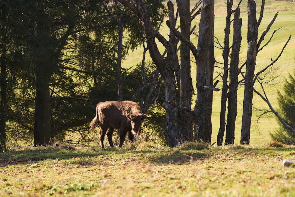
[{"label": "entire tree line, dark evergreens plus bare trunks, behind the bison", "polygon": [[[259,48],[276,18],[259,38],[264,2],[257,20],[255,1],[247,1],[248,55],[244,63],[239,58],[241,1],[235,8],[233,0],[226,2],[224,45],[219,43],[224,71],[218,146],[222,146],[225,129],[225,144],[234,143],[237,87],[241,83],[245,91],[240,143],[250,143],[254,84],[262,85],[260,74],[269,68],[255,75],[256,56],[267,45]],[[175,12],[171,1],[166,9],[161,0],[1,1],[2,149],[6,147],[6,135],[34,139],[33,144],[40,145],[52,143],[55,138],[64,141],[66,136],[78,136],[76,143],[90,138],[88,124],[95,105],[105,100],[137,101],[142,111],[150,114],[145,123],[150,133],[160,133],[171,147],[193,140],[211,144],[213,91],[219,90],[218,80],[213,78],[217,64],[214,0],[198,1],[192,9],[189,0],[176,0],[176,4]],[[168,39],[159,32],[166,15]],[[191,27],[198,15],[199,27]],[[229,37],[231,23],[233,38]],[[194,44],[191,33],[196,28],[198,42]],[[162,54],[159,44],[165,48]],[[142,62],[131,69],[122,68],[128,51],[140,45],[144,48]],[[152,63],[145,62],[147,51]],[[193,110],[191,62],[197,68]]]}]

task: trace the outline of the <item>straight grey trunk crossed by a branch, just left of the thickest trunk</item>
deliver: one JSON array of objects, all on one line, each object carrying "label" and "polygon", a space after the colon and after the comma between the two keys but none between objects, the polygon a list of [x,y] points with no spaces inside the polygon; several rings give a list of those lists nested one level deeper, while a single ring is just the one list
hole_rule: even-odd
[{"label": "straight grey trunk crossed by a branch, just left of the thickest trunk", "polygon": [[[190,15],[190,1],[177,0],[177,6],[180,17],[180,29],[182,35],[190,40],[191,35],[191,15]],[[193,82],[191,79],[191,59],[190,48],[181,42],[180,48],[180,107],[191,109],[191,96],[193,92]],[[180,140],[184,141],[193,140],[193,117],[188,110],[179,111],[179,124],[180,124]]]}]

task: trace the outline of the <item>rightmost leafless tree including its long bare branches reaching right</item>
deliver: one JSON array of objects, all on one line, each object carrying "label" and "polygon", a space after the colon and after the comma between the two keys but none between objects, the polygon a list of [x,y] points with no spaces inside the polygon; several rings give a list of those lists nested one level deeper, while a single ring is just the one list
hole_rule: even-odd
[{"label": "rightmost leafless tree including its long bare branches reaching right", "polygon": [[[291,36],[289,37],[289,40],[286,42],[279,56],[275,60],[272,60],[271,64],[269,64],[268,66],[266,66],[265,68],[257,72],[256,75],[254,75],[257,53],[261,51],[266,45],[268,45],[268,43],[271,41],[273,37],[273,34],[276,32],[275,30],[271,38],[266,42],[266,44],[263,45],[261,48],[259,48],[262,41],[265,38],[265,35],[268,33],[276,17],[278,16],[278,13],[276,13],[272,21],[269,23],[268,27],[266,28],[266,30],[263,31],[262,35],[260,36],[258,40],[258,27],[263,17],[263,8],[264,8],[264,0],[262,1],[262,5],[261,5],[260,17],[258,21],[256,22],[256,4],[254,1],[250,1],[250,0],[248,1],[248,56],[246,61],[246,74],[245,76],[242,74],[242,76],[245,79],[245,91],[244,91],[242,131],[241,131],[241,141],[240,141],[241,144],[246,144],[246,145],[250,143],[250,125],[251,125],[251,115],[252,115],[253,91],[257,93],[268,104],[271,111],[267,111],[267,112],[274,113],[278,117],[279,121],[281,121],[281,123],[283,123],[283,125],[286,126],[286,128],[295,132],[295,130],[291,128],[290,126],[288,126],[283,121],[281,116],[271,106],[271,103],[268,100],[265,89],[263,87],[264,82],[262,81],[265,78],[265,73],[267,73],[267,70],[278,60],[278,58],[283,53],[283,50],[286,47],[289,40],[291,39]],[[263,77],[260,77],[262,75]],[[258,82],[260,84],[263,93],[260,93],[254,88],[255,82]]]}]

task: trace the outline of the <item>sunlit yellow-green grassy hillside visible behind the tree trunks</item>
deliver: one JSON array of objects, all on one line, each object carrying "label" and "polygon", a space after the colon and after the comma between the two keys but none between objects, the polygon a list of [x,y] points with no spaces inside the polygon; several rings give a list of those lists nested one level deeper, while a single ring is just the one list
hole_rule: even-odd
[{"label": "sunlit yellow-green grassy hillside visible behind the tree trunks", "polygon": [[[191,7],[194,6],[196,1],[191,1]],[[238,1],[235,1],[234,6],[237,6]],[[176,3],[174,3],[176,5]],[[259,17],[261,1],[256,1],[257,5],[257,14]],[[264,15],[262,23],[259,27],[259,35],[265,30],[269,22],[274,17],[276,12],[279,12],[278,17],[271,27],[270,32],[266,36],[265,40],[261,45],[264,45],[268,39],[271,37],[271,34],[274,30],[277,30],[274,34],[272,41],[258,53],[257,56],[257,66],[256,71],[258,72],[264,66],[267,66],[271,63],[272,59],[275,59],[278,54],[281,52],[283,45],[288,40],[289,36],[292,35],[289,44],[285,48],[279,61],[273,66],[273,69],[277,69],[276,73],[271,73],[271,76],[279,76],[273,84],[266,88],[267,96],[271,100],[273,107],[277,107],[277,91],[281,89],[282,82],[288,76],[288,73],[293,73],[294,69],[294,33],[295,33],[295,13],[294,13],[294,2],[290,1],[267,1],[264,9]],[[242,44],[241,44],[241,62],[244,62],[247,56],[247,1],[243,1],[241,4],[241,18],[242,18]],[[224,39],[224,28],[225,28],[225,16],[226,16],[226,4],[222,0],[215,1],[215,26],[214,34],[220,41],[223,43]],[[233,17],[233,16],[232,16]],[[164,21],[166,21],[165,19]],[[198,25],[198,19],[192,22],[192,25]],[[167,35],[169,32],[168,27],[165,23],[161,28],[162,35]],[[191,37],[193,43],[197,44],[197,38],[195,36]],[[230,42],[231,43],[231,42]],[[160,44],[158,45],[160,51],[163,51],[164,48]],[[222,51],[215,48],[215,59],[217,62],[222,62]],[[137,51],[130,51],[130,56],[127,57],[127,60],[123,62],[123,66],[130,67],[139,63],[142,59],[142,49],[139,48]],[[196,84],[196,66],[194,63],[191,64],[191,75],[193,79],[193,84]],[[215,71],[220,71],[220,69],[215,69]],[[218,84],[219,88],[221,87],[221,80]],[[214,102],[213,102],[213,133],[212,133],[212,142],[216,141],[217,133],[219,129],[219,115],[220,115],[220,95],[221,92],[214,92]],[[195,99],[195,98],[194,98]],[[237,115],[237,125],[236,125],[236,136],[235,143],[240,143],[240,131],[241,131],[241,121],[242,121],[242,102],[243,102],[243,87],[239,87],[238,90],[238,115]],[[193,103],[194,105],[194,103]],[[262,99],[258,96],[254,96],[253,106],[255,108],[265,108],[268,109],[267,105]],[[253,124],[250,136],[251,144],[264,144],[271,141],[269,132],[278,128],[278,123],[276,122],[276,117],[269,114],[268,117],[260,118],[259,122],[257,116],[260,115],[259,112],[253,111]],[[257,124],[256,124],[257,123]]]}]

